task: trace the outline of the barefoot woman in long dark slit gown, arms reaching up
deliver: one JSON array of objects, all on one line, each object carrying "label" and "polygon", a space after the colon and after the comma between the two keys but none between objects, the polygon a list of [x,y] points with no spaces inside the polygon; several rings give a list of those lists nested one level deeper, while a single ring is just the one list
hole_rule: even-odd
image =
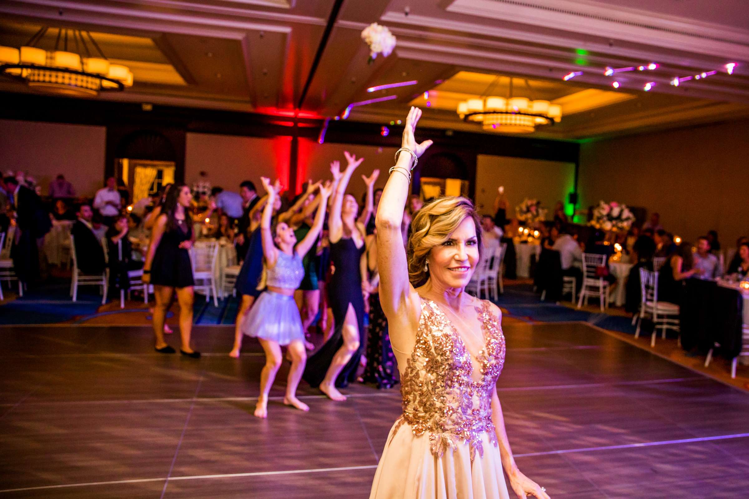
[{"label": "barefoot woman in long dark slit gown, arms reaching up", "polygon": [[373,186],[380,171],[363,177],[367,184],[365,209],[357,218],[359,206],[354,196],[345,194],[351,175],[363,158],[345,152],[348,166],[340,173],[338,162],[333,162],[333,178],[339,180],[330,206],[328,229],[330,260],[335,272],[327,285],[329,305],[333,309],[336,331],[327,342],[307,360],[304,380],[333,400],[346,397],[338,388],[347,386],[357,376],[364,343],[364,295],[360,258],[364,252],[366,225],[372,215]]}]

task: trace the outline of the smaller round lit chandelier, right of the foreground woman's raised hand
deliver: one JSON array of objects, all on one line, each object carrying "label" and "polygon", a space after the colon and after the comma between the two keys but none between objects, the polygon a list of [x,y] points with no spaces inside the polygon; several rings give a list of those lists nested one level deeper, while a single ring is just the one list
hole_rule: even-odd
[{"label": "smaller round lit chandelier, right of the foreground woman's raised hand", "polygon": [[[497,81],[498,81],[497,77]],[[526,85],[528,85],[526,81]],[[480,97],[458,104],[461,120],[481,123],[487,132],[531,133],[536,126],[553,125],[562,120],[562,106],[548,100],[530,100],[512,97],[512,78],[509,84],[510,97]]]}]

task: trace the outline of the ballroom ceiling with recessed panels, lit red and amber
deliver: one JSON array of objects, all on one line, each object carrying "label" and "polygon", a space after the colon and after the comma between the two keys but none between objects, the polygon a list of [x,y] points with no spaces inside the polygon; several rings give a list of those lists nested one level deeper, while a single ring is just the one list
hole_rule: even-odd
[{"label": "ballroom ceiling with recessed panels, lit red and amber", "polygon": [[[533,136],[582,140],[749,116],[745,0],[4,0],[0,45],[49,26],[91,31],[135,85],[98,99],[389,123],[410,104],[422,123],[482,132],[455,113],[469,97],[551,100],[561,123]],[[370,22],[398,38],[371,64]],[[329,36],[326,37],[326,34]],[[605,67],[657,70],[604,76]],[[739,64],[733,76],[728,63]],[[315,64],[316,63],[316,64]],[[702,81],[675,76],[718,70]],[[582,72],[565,82],[570,72]],[[367,88],[413,82],[400,88]],[[652,91],[643,85],[655,82]],[[30,92],[0,79],[0,91]],[[425,94],[428,92],[428,94]],[[428,107],[427,107],[428,101]]]}]

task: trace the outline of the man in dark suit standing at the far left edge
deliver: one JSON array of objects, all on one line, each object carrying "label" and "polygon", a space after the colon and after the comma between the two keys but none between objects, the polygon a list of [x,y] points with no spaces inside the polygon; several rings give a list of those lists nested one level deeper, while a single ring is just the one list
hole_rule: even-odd
[{"label": "man in dark suit standing at the far left edge", "polygon": [[16,177],[5,177],[4,182],[8,201],[16,213],[16,234],[10,257],[13,258],[16,275],[28,286],[40,278],[43,263],[43,252],[40,250],[52,221],[36,192],[22,186]]}]

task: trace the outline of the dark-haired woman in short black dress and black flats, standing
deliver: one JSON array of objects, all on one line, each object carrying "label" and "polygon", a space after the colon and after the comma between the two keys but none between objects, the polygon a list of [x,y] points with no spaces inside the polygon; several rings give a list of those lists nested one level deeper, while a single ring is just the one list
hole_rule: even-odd
[{"label": "dark-haired woman in short black dress and black flats, standing", "polygon": [[177,185],[169,189],[164,206],[151,232],[151,244],[143,266],[143,282],[154,285],[154,335],[156,351],[174,353],[175,349],[164,341],[164,319],[172,295],[177,291],[180,304],[180,352],[191,358],[200,358],[189,345],[192,332],[192,265],[189,250],[192,248],[192,221],[187,213],[192,195],[189,187]]}]

